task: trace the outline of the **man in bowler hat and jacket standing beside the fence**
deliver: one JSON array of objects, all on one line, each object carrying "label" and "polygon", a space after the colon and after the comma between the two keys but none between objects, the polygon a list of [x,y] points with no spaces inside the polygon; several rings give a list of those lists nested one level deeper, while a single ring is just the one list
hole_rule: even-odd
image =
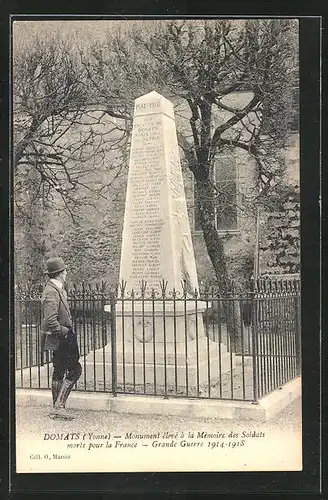
[{"label": "man in bowler hat and jacket standing beside the fence", "polygon": [[59,257],[48,259],[46,274],[49,276],[41,299],[43,350],[52,351],[52,400],[54,418],[74,418],[65,409],[67,398],[79,379],[82,367],[76,335],[64,289],[67,271]]}]

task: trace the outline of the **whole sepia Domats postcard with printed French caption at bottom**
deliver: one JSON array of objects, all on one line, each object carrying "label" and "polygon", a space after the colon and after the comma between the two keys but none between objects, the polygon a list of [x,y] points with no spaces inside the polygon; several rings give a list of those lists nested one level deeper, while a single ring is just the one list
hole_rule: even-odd
[{"label": "whole sepia Domats postcard with printed French caption at bottom", "polygon": [[302,470],[298,31],[13,21],[18,474]]}]

